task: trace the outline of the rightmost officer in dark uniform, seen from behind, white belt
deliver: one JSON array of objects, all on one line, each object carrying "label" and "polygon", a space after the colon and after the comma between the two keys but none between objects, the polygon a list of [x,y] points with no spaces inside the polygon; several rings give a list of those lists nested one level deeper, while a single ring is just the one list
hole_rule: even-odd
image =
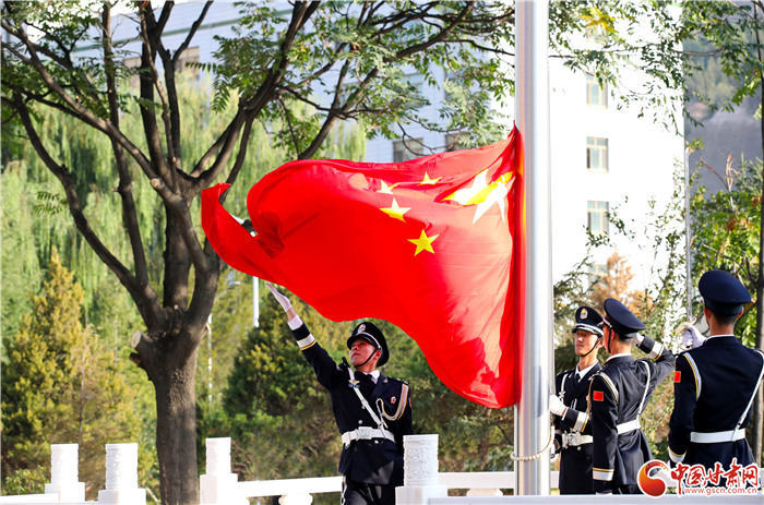
[{"label": "rightmost officer in dark uniform, seen from behind, white belt", "polygon": [[754,461],[745,426],[764,374],[764,356],[742,346],[733,329],[751,294],[723,270],[703,274],[697,289],[711,336],[677,359],[669,458],[706,468],[718,461],[725,470],[737,458],[744,467]]}]

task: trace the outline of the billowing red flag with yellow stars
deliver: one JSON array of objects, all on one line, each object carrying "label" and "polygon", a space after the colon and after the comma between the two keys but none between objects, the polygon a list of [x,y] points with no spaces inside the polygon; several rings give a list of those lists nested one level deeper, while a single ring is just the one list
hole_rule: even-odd
[{"label": "billowing red flag with yellow stars", "polygon": [[250,190],[256,237],[220,205],[227,184],[202,193],[202,224],[231,267],[331,320],[390,321],[452,390],[500,408],[521,390],[523,183],[515,129],[401,164],[291,161]]}]

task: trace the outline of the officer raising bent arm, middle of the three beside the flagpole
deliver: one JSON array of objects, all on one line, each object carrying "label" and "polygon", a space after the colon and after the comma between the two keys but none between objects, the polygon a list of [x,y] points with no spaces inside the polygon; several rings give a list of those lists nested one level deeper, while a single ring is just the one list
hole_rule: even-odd
[{"label": "officer raising bent arm, middle of the three beside the flagpole", "polygon": [[[637,473],[653,459],[640,429],[655,387],[673,371],[675,356],[662,345],[638,334],[645,325],[621,302],[605,300],[605,350],[610,353],[589,386],[589,418],[594,436],[594,492],[638,494]],[[635,342],[650,359],[634,360]]]}]

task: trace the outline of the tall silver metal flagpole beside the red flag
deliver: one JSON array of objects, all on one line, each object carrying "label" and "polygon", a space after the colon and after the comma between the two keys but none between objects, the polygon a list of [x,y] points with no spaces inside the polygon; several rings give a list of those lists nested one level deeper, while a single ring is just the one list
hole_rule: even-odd
[{"label": "tall silver metal flagpole beside the red flag", "polygon": [[[549,384],[552,353],[549,165],[549,2],[515,2],[515,121],[525,147],[525,348],[515,409],[515,491],[548,495]],[[535,459],[527,461],[523,458]]]}]

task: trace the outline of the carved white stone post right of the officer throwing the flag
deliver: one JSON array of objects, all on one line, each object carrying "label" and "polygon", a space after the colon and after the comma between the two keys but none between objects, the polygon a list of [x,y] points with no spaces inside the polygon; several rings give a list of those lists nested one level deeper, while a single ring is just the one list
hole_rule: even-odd
[{"label": "carved white stone post right of the officer throwing the flag", "polygon": [[395,490],[396,505],[427,505],[432,497],[447,496],[438,478],[438,435],[403,437],[403,488]]}]

